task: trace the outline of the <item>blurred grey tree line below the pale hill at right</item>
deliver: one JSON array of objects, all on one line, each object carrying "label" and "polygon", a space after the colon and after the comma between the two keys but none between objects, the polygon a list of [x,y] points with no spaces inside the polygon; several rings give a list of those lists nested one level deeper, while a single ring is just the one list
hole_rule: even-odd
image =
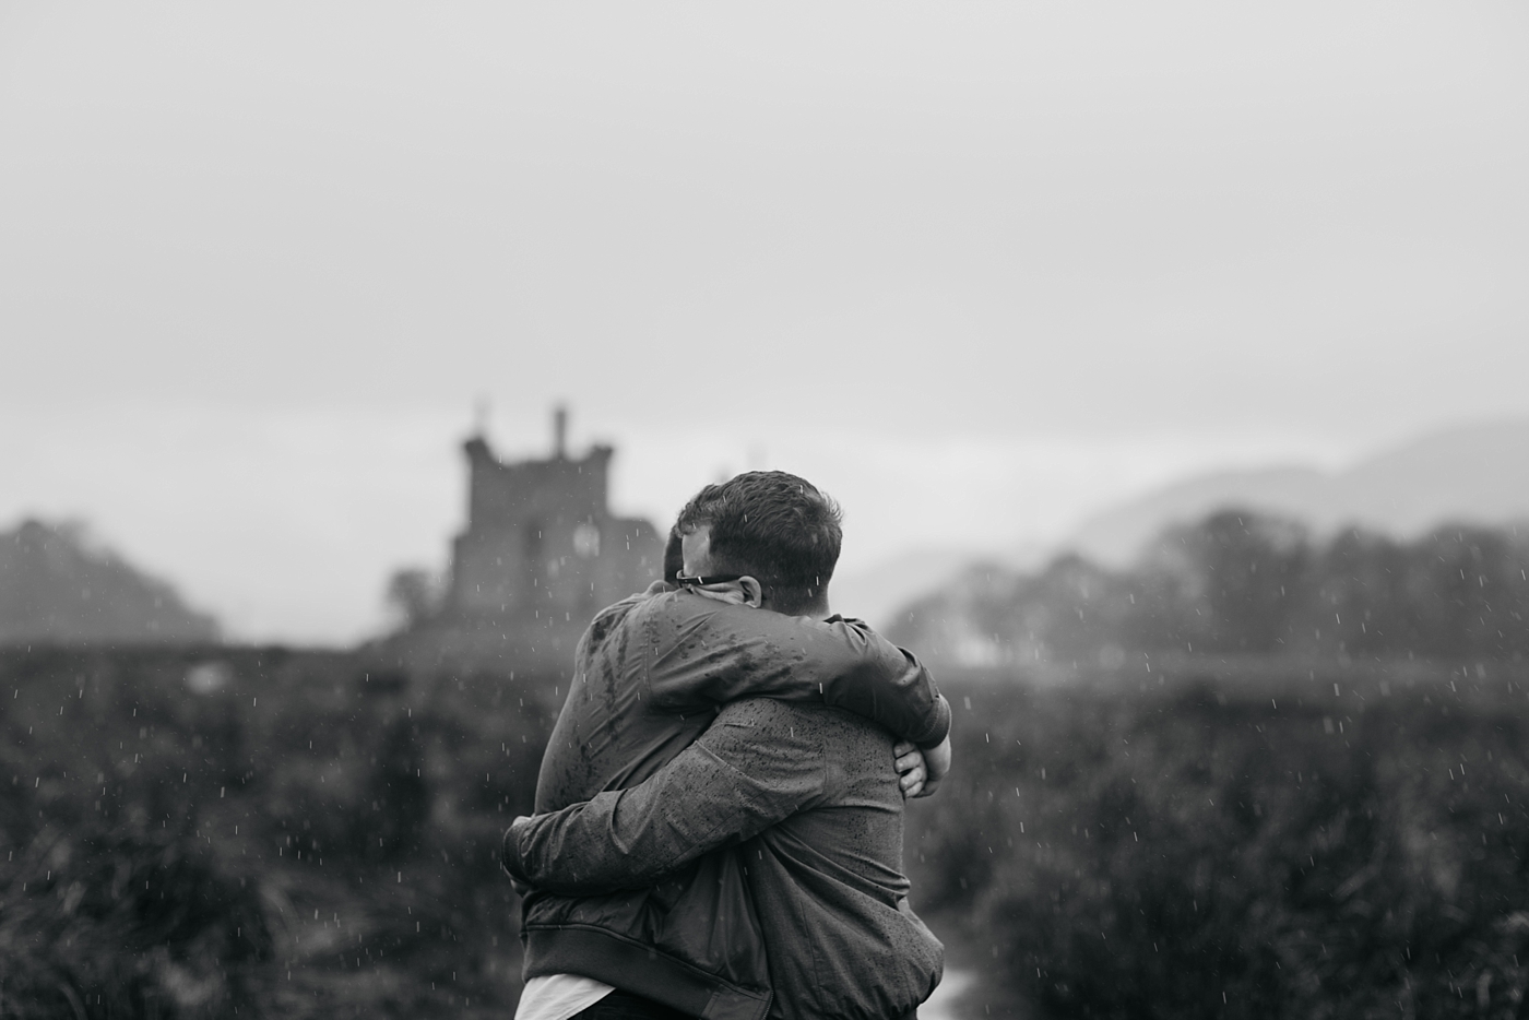
[{"label": "blurred grey tree line below the pale hill at right", "polygon": [[1437,528],[1404,543],[1359,529],[1313,540],[1290,520],[1222,511],[1174,528],[1128,570],[1075,555],[1037,575],[977,567],[888,632],[968,665],[1254,653],[1521,659],[1529,541]]}]

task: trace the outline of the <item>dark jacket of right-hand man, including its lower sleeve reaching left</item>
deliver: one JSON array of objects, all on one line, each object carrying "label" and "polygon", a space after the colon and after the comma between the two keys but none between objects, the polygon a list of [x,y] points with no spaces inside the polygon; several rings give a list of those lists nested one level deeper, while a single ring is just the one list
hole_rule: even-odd
[{"label": "dark jacket of right-hand man, including its lower sleeve reaching left", "polygon": [[841,710],[735,702],[642,784],[518,820],[505,856],[576,896],[648,885],[740,841],[771,1017],[893,1020],[928,999],[943,948],[908,908],[891,739]]}]

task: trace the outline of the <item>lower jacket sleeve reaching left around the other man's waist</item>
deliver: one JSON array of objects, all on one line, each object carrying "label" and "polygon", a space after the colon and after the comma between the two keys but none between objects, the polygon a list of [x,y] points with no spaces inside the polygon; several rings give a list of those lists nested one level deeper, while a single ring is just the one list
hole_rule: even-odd
[{"label": "lower jacket sleeve reaching left around the other man's waist", "polygon": [[763,699],[726,707],[638,786],[517,818],[505,833],[505,870],[564,896],[642,888],[810,807],[824,792],[824,754],[816,729],[792,719],[789,707]]}]

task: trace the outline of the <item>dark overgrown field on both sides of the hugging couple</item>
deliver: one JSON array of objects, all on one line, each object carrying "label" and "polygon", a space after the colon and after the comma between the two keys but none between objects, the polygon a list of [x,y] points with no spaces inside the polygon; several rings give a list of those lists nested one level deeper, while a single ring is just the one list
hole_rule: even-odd
[{"label": "dark overgrown field on both sides of the hugging couple", "polygon": [[[969,1015],[1518,1015],[1521,665],[943,677],[908,814]],[[0,1017],[506,1017],[558,677],[0,655]]]}]

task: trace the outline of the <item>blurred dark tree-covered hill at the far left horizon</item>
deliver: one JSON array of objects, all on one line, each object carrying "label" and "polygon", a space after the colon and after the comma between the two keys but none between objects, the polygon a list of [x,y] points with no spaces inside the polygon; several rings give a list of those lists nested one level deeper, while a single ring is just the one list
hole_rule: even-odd
[{"label": "blurred dark tree-covered hill at the far left horizon", "polygon": [[0,532],[0,645],[217,641],[206,613],[80,528],[21,521]]}]

